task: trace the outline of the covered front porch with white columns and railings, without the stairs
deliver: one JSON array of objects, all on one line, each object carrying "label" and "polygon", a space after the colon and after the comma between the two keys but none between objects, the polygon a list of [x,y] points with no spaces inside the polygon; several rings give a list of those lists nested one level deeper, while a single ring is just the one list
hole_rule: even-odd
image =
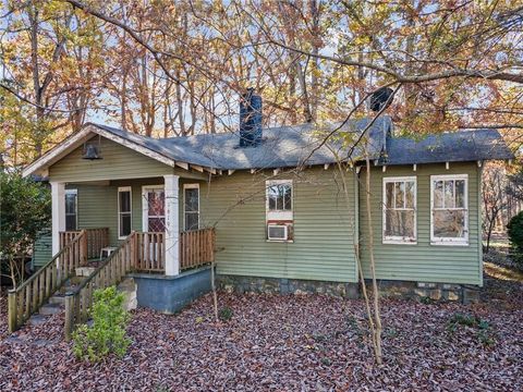
[{"label": "covered front porch with white columns and railings, without the stairs", "polygon": [[85,230],[88,260],[132,236],[127,257],[136,272],[174,277],[210,264],[215,232],[203,224],[199,183],[194,174],[51,182],[52,254]]}]

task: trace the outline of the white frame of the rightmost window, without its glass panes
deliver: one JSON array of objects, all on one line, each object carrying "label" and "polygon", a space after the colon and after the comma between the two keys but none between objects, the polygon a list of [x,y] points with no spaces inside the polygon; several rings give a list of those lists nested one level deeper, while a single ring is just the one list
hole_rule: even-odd
[{"label": "white frame of the rightmost window, without its glass panes", "polygon": [[[454,237],[437,237],[434,235],[434,191],[435,183],[438,181],[449,181],[449,180],[464,180],[464,208],[440,208],[441,210],[464,210],[464,237],[454,238]],[[455,192],[455,187],[454,187]],[[445,187],[443,187],[443,199],[445,199]],[[455,194],[454,194],[455,200]],[[445,174],[445,175],[430,175],[430,245],[450,245],[450,246],[469,246],[469,174]]]}]

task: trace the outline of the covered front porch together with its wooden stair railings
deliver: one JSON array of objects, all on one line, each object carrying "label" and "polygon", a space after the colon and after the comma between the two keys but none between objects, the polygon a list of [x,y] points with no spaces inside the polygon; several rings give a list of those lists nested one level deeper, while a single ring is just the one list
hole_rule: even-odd
[{"label": "covered front porch together with its wooden stair railings", "polygon": [[[214,228],[202,225],[198,184],[178,175],[51,182],[53,257],[9,293],[10,331],[51,297],[61,297],[69,338],[88,318],[94,291],[118,285],[130,274],[149,275],[157,289],[183,281],[194,285],[190,297],[196,297],[203,285],[194,277],[215,260],[216,238]],[[101,255],[104,248],[110,254]],[[161,277],[170,281],[158,281]],[[183,291],[183,285],[170,284],[171,292]]]}]

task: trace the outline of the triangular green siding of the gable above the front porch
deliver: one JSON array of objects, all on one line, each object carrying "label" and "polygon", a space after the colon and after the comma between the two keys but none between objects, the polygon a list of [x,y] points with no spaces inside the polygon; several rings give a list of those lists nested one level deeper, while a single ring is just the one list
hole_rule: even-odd
[{"label": "triangular green siding of the gable above the front porch", "polygon": [[[95,136],[92,140],[97,140]],[[120,179],[153,177],[165,174],[196,175],[173,169],[141,152],[101,137],[100,155],[102,159],[82,159],[78,147],[49,168],[50,181],[80,182]]]}]

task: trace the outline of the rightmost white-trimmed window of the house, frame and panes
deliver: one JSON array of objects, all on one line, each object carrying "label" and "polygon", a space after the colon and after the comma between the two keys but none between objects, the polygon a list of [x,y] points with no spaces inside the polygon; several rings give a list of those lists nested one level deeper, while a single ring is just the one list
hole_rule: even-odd
[{"label": "rightmost white-trimmed window of the house, frame and panes", "polygon": [[430,176],[430,241],[433,245],[469,243],[469,176]]}]

